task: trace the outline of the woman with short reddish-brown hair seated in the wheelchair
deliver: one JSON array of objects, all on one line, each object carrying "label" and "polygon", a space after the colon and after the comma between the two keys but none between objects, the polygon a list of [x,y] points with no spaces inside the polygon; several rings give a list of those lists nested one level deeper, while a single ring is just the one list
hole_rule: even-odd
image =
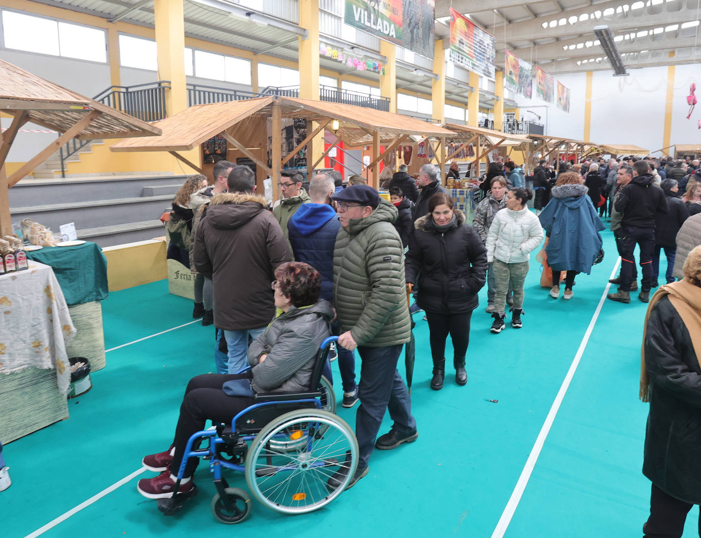
[{"label": "woman with short reddish-brown hair seated in the wheelchair", "polygon": [[[311,382],[315,356],[330,336],[334,316],[328,301],[319,298],[321,275],[307,263],[283,263],[275,270],[276,313],[266,331],[248,348],[249,371],[237,374],[207,373],[192,378],[185,389],[175,439],[165,452],[144,457],[144,467],[161,474],[139,480],[137,490],[149,499],[172,496],[178,469],[188,439],[203,430],[207,419],[231,423],[237,413],[253,403],[241,394],[240,382],[249,379],[254,392],[306,392]],[[227,382],[232,382],[227,387]],[[231,385],[236,385],[233,387]],[[194,489],[193,472],[198,458],[187,463],[179,492]]]}]

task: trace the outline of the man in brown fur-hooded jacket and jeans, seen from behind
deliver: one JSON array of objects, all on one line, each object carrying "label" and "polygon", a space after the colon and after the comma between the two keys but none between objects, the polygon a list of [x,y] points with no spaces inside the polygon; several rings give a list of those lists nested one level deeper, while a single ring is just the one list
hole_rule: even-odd
[{"label": "man in brown fur-hooded jacket and jeans, seen from behind", "polygon": [[197,229],[194,263],[212,279],[215,326],[224,330],[228,364],[219,373],[246,366],[248,338],[257,338],[275,315],[271,282],[275,268],[290,261],[290,249],[280,224],[255,194],[250,168],[235,166],[229,192],[216,195]]}]

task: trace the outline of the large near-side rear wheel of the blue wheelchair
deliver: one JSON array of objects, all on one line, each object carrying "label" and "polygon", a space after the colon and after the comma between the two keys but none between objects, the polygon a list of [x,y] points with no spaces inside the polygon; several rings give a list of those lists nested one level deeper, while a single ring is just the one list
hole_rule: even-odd
[{"label": "large near-side rear wheel of the blue wheelchair", "polygon": [[[273,439],[294,441],[295,448],[276,450]],[[348,474],[329,488],[329,478],[341,467],[347,467]],[[270,422],[256,436],[245,474],[253,496],[268,508],[306,513],[341,495],[357,467],[358,441],[343,419],[324,410],[298,409]]]}]

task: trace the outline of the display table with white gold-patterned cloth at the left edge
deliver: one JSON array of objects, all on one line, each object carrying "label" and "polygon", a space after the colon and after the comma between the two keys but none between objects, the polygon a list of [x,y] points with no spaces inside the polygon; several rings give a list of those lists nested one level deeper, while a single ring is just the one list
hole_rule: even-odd
[{"label": "display table with white gold-patterned cloth at the left edge", "polygon": [[76,333],[52,268],[0,276],[0,439],[8,443],[68,417],[66,342]]}]

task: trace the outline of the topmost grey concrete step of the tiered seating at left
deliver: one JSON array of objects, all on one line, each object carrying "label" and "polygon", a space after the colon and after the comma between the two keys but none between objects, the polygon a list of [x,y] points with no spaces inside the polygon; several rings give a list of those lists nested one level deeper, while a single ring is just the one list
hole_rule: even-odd
[{"label": "topmost grey concrete step of the tiered seating at left", "polygon": [[[53,174],[50,174],[53,177]],[[48,178],[47,178],[48,179]],[[187,176],[163,176],[148,173],[133,177],[91,177],[91,178],[56,178],[53,181],[36,181],[22,179],[8,192],[10,207],[26,207],[34,205],[52,205],[62,202],[92,202],[93,200],[109,200],[119,198],[137,198],[144,195],[145,187],[176,185],[178,188],[185,182]],[[160,194],[170,194],[172,198],[177,192],[163,191]],[[160,216],[160,215],[159,215]],[[137,219],[140,221],[143,219]]]}]

